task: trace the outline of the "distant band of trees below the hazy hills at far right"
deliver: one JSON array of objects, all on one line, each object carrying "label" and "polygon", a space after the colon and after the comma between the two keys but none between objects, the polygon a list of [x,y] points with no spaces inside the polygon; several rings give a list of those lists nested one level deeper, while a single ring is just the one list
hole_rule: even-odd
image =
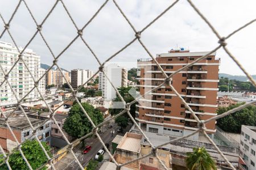
[{"label": "distant band of trees below the hazy hills at far right", "polygon": [[228,78],[221,77],[220,82],[218,83],[219,91],[228,91],[228,82],[229,82],[229,91],[256,91],[256,87],[253,86],[250,82],[241,82],[238,80],[229,80]]}]

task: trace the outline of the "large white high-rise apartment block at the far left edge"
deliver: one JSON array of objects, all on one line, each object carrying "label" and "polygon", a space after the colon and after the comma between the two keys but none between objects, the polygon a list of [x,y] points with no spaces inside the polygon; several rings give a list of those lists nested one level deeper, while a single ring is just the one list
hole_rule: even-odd
[{"label": "large white high-rise apartment block at the far left edge", "polygon": [[[20,47],[19,50],[23,50],[23,48]],[[0,65],[4,69],[5,73],[7,73],[11,67],[13,67],[15,61],[18,60],[18,56],[18,49],[16,49],[14,45],[0,41]],[[36,80],[39,79],[40,76],[42,76],[44,73],[44,70],[40,68],[40,56],[33,52],[32,49],[26,49],[23,52],[22,58],[30,69],[34,78]],[[0,69],[0,83],[2,83],[4,80],[5,75]],[[22,97],[24,97],[35,85],[32,76],[30,73],[28,73],[28,70],[22,61],[16,63],[9,74],[8,80],[19,99],[22,99]],[[38,86],[42,95],[45,94],[46,90],[45,82],[45,78],[41,79]],[[31,101],[39,98],[40,94],[35,89],[30,92],[30,94],[28,94],[24,100]],[[17,100],[7,82],[3,83],[0,87],[0,99],[0,105],[10,105],[17,103]]]}]

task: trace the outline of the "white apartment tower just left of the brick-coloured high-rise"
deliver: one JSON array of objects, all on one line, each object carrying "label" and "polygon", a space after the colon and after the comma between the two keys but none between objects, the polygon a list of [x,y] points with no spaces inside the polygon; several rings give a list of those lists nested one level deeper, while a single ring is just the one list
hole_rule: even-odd
[{"label": "white apartment tower just left of the brick-coloured high-rise", "polygon": [[[127,70],[117,64],[109,64],[104,67],[104,71],[114,87],[126,87],[127,86]],[[103,73],[99,74],[99,90],[102,90],[102,96],[105,100],[112,100],[116,96],[116,92],[109,80]]]}]

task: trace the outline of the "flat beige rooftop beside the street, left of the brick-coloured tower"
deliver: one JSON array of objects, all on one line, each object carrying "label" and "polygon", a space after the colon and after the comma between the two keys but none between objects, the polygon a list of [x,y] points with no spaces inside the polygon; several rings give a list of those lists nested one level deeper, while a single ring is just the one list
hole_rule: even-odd
[{"label": "flat beige rooftop beside the street, left of the brick-coloured tower", "polygon": [[141,151],[141,139],[141,134],[127,132],[119,142],[117,148],[138,153]]}]

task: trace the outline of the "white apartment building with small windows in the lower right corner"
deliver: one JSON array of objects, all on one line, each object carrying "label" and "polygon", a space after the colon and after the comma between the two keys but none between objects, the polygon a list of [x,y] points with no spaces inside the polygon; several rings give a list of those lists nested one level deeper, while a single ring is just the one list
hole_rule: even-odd
[{"label": "white apartment building with small windows in the lower right corner", "polygon": [[242,125],[240,156],[245,165],[240,164],[240,169],[255,170],[256,163],[256,126]]}]

